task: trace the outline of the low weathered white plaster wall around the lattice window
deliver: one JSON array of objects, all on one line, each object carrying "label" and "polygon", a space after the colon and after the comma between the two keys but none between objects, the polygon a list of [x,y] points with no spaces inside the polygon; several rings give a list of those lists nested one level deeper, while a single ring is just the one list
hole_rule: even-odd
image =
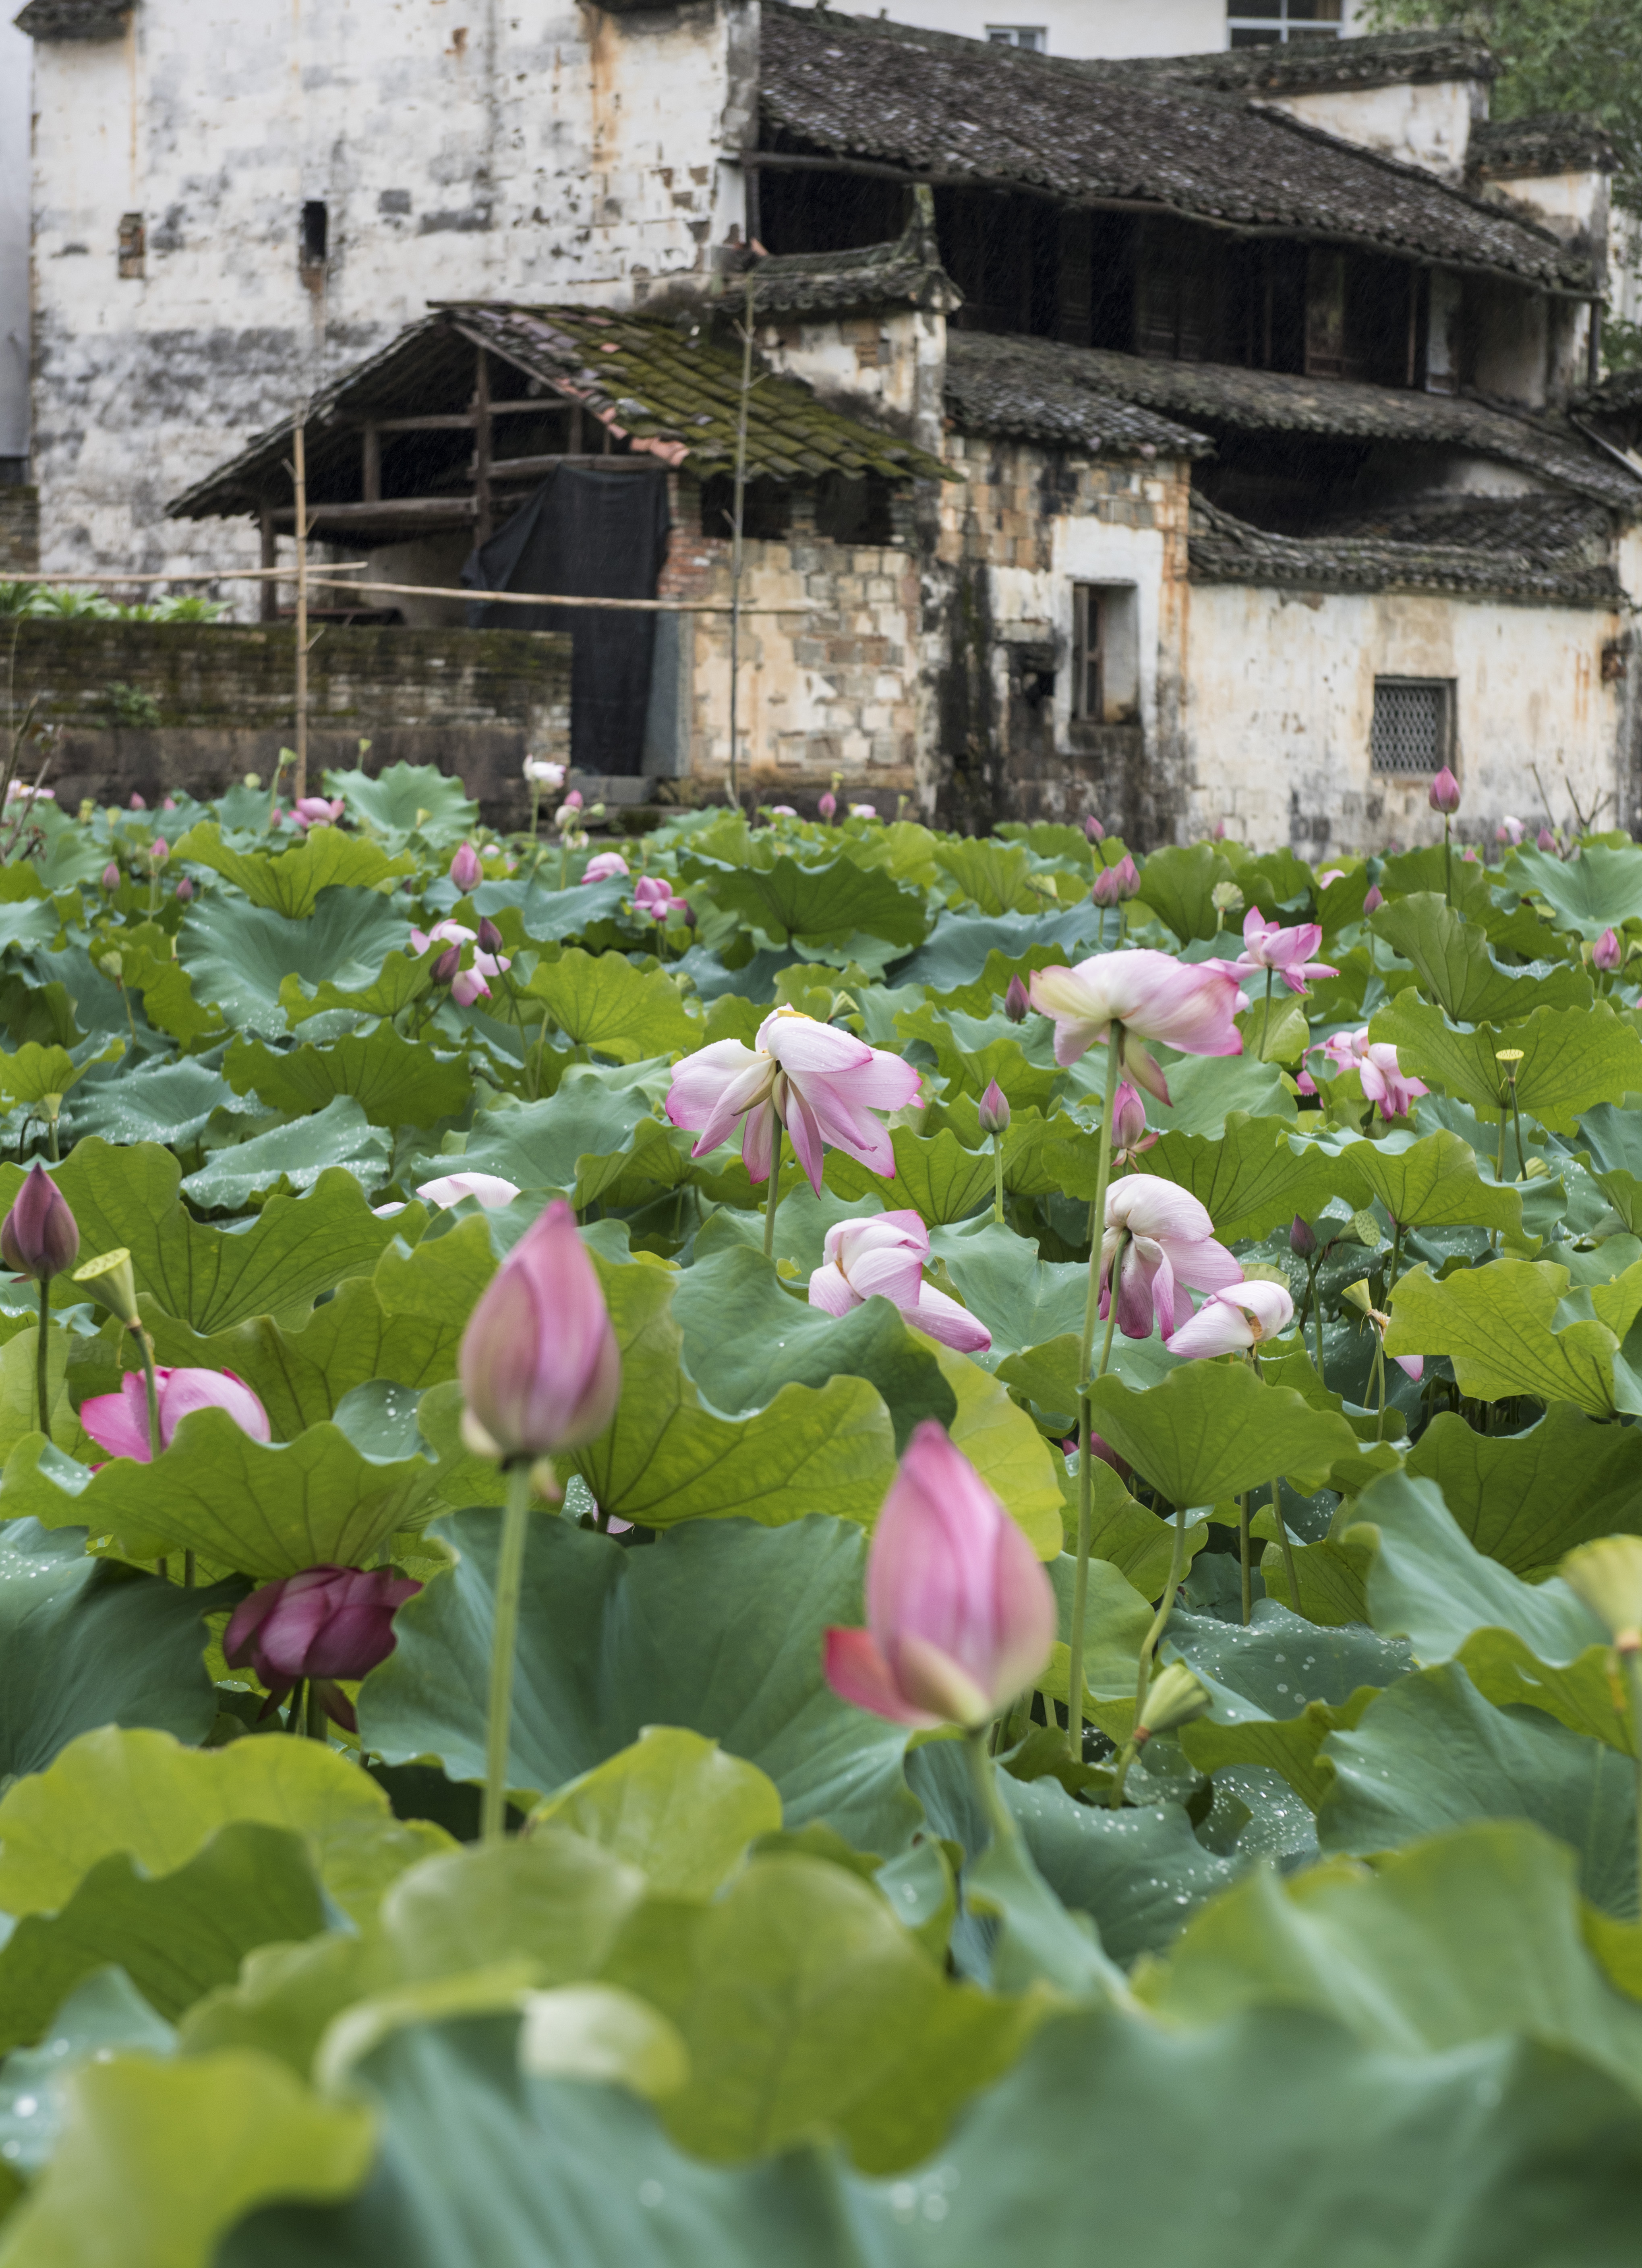
[{"label": "low weathered white plaster wall around the lattice window", "polygon": [[1429,782],[1370,771],[1377,676],[1454,680],[1463,839],[1540,810],[1531,764],[1560,821],[1567,782],[1613,826],[1624,685],[1601,680],[1601,653],[1619,628],[1592,608],[1193,585],[1182,835],[1225,821],[1311,860],[1429,841]]}]

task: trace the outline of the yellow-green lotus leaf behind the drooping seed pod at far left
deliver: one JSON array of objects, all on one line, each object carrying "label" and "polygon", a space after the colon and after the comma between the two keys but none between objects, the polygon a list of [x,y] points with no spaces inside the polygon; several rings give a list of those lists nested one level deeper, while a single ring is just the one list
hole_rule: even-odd
[{"label": "yellow-green lotus leaf behind the drooping seed pod at far left", "polygon": [[[399,1225],[372,1213],[352,1173],[322,1173],[304,1198],[270,1198],[247,1229],[209,1229],[181,1204],[179,1179],[177,1159],[159,1143],[116,1150],[82,1141],[57,1168],[82,1254],[125,1245],[138,1293],[195,1331],[308,1309],[345,1277],[370,1275]],[[0,1166],[0,1209],[20,1186],[20,1168]],[[84,1295],[73,1277],[57,1277],[54,1297]]]}]

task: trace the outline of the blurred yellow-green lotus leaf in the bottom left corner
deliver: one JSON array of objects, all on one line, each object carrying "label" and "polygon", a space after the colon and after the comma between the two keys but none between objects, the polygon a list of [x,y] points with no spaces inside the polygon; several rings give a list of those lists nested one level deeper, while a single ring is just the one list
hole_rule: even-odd
[{"label": "blurred yellow-green lotus leaf in the bottom left corner", "polygon": [[7,2223],[0,2261],[211,2268],[247,2211],[347,2198],[370,2157],[370,2109],[320,2100],[272,2057],[93,2062],[68,2084],[61,2146]]}]

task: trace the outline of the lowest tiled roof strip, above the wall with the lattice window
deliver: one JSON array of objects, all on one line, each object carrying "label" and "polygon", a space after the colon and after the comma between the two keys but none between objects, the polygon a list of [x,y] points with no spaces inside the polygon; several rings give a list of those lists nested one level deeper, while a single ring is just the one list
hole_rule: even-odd
[{"label": "lowest tiled roof strip, above the wall with the lattice window", "polygon": [[1281,590],[1440,590],[1538,606],[1624,606],[1606,515],[1549,499],[1465,499],[1359,519],[1324,535],[1270,535],[1191,503],[1193,583]]}]

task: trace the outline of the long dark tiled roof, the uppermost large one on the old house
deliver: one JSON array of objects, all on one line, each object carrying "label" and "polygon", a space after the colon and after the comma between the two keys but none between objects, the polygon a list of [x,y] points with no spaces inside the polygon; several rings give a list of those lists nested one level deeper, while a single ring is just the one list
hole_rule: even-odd
[{"label": "long dark tiled roof, the uppermost large one on the old house", "polygon": [[1270,109],[780,0],[760,23],[767,147],[1594,288],[1588,259],[1549,229]]}]

